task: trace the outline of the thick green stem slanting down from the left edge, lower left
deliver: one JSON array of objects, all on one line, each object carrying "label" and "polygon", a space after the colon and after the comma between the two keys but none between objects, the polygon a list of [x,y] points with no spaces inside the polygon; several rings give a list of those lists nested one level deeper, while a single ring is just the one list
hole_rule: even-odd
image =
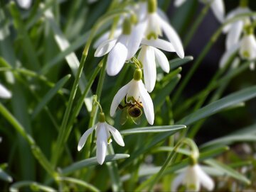
[{"label": "thick green stem slanting down from the left edge, lower left", "polygon": [[31,135],[28,135],[26,130],[23,128],[23,126],[14,118],[13,115],[0,103],[0,113],[1,115],[6,118],[6,120],[11,123],[11,125],[14,126],[17,132],[21,134],[22,137],[25,138],[25,140],[28,142],[28,144],[31,146],[31,150],[33,152],[33,155],[36,157],[38,162],[43,166],[44,169],[50,174],[50,176],[53,176],[55,179],[56,176],[58,176],[58,173],[54,171],[53,166],[50,165],[50,162],[48,162],[48,159],[46,159],[45,155],[41,151],[41,149],[36,145],[36,142],[33,140]]}]

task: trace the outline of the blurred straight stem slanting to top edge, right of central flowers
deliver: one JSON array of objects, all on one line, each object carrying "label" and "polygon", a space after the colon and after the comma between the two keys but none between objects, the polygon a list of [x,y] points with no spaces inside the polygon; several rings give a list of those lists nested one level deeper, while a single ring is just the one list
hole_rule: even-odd
[{"label": "blurred straight stem slanting to top edge, right of central flowers", "polygon": [[188,46],[188,43],[191,42],[191,38],[193,38],[193,35],[196,33],[196,30],[200,26],[201,22],[203,21],[203,18],[205,18],[206,13],[208,13],[208,10],[210,9],[210,3],[206,4],[206,6],[202,9],[199,16],[196,18],[196,21],[193,23],[193,26],[191,30],[189,30],[188,35],[186,35],[186,38],[184,40],[184,47]]}]

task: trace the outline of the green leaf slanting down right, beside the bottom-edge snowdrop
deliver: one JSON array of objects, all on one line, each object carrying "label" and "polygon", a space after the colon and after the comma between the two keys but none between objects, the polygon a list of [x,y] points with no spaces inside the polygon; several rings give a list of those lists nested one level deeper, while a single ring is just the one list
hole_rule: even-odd
[{"label": "green leaf slanting down right, beside the bottom-edge snowdrop", "polygon": [[235,171],[230,166],[223,164],[221,162],[217,162],[214,159],[208,159],[205,161],[206,164],[215,167],[215,169],[219,169],[220,171],[223,171],[223,174],[231,176],[235,179],[238,179],[239,181],[242,181],[244,183],[247,183],[250,185],[251,181],[247,179],[242,174],[238,173],[238,171]]}]

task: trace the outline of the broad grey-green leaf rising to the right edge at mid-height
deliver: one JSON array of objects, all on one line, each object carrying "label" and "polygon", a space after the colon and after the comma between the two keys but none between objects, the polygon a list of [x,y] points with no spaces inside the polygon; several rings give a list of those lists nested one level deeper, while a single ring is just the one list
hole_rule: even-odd
[{"label": "broad grey-green leaf rising to the right edge at mid-height", "polygon": [[237,103],[247,101],[256,96],[256,86],[251,86],[247,89],[242,89],[241,91],[235,92],[221,98],[218,101],[210,103],[208,106],[205,106],[198,111],[187,115],[185,118],[178,120],[178,124],[191,125],[202,118],[206,118],[210,115],[223,111],[225,108],[229,108]]}]

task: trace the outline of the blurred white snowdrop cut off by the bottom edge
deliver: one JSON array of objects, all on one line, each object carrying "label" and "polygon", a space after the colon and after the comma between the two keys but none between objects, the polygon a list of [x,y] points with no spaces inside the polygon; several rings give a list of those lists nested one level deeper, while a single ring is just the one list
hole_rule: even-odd
[{"label": "blurred white snowdrop cut off by the bottom edge", "polygon": [[198,164],[188,166],[181,174],[178,174],[171,183],[171,191],[177,191],[181,184],[186,186],[186,191],[199,191],[201,185],[208,191],[214,188],[213,179]]}]

